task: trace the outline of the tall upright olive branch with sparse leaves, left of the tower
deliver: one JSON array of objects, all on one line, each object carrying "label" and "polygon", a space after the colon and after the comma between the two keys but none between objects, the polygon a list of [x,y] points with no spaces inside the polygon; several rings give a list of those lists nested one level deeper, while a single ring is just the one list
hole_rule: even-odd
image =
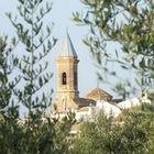
[{"label": "tall upright olive branch with sparse leaves, left of the tower", "polygon": [[[46,56],[56,43],[51,41],[52,26],[45,25],[45,18],[52,10],[52,3],[45,0],[18,0],[18,15],[8,13],[14,26],[18,38],[23,45],[23,51],[19,51],[22,58],[18,65],[23,89],[15,90],[15,95],[29,111],[34,108],[46,108],[51,103],[51,92],[46,94],[43,87],[52,78],[52,73],[47,73],[48,63]],[[21,85],[22,85],[21,84]]]}]

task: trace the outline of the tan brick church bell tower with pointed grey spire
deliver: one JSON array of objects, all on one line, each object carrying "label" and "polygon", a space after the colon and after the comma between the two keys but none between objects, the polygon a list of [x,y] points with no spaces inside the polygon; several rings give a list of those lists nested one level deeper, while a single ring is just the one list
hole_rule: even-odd
[{"label": "tan brick church bell tower with pointed grey spire", "polygon": [[78,91],[78,57],[72,40],[66,34],[61,53],[56,58],[57,91],[54,106],[58,112],[77,109]]}]

